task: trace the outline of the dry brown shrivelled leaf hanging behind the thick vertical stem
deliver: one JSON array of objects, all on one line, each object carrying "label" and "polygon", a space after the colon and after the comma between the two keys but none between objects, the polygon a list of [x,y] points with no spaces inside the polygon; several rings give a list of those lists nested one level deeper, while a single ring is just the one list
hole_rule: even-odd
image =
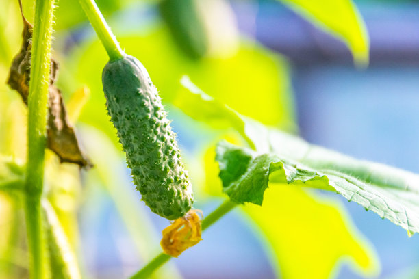
[{"label": "dry brown shrivelled leaf hanging behind the thick vertical stem", "polygon": [[[27,105],[29,95],[29,77],[31,68],[31,36],[32,25],[23,16],[23,42],[21,50],[14,57],[8,78],[10,88],[21,94]],[[58,64],[51,60],[51,75],[48,98],[47,145],[57,154],[62,162],[77,163],[81,167],[90,165],[81,151],[75,131],[68,122],[61,92],[53,84],[58,74]]]}]

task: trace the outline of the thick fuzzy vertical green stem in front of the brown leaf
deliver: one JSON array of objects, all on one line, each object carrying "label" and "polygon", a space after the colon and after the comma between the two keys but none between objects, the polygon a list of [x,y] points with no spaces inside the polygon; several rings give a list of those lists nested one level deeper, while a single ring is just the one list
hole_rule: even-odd
[{"label": "thick fuzzy vertical green stem in front of the brown leaf", "polygon": [[47,278],[46,245],[42,236],[40,197],[44,181],[47,101],[51,65],[54,0],[36,0],[28,97],[28,152],[25,177],[25,217],[30,275]]}]

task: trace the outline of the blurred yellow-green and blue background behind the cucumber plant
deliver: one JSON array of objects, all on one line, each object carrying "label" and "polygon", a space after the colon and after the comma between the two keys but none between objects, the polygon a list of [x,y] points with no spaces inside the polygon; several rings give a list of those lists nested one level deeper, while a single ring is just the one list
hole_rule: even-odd
[{"label": "blurred yellow-green and blue background behind the cucumber plant", "polygon": [[[7,78],[18,52],[22,28],[17,1],[3,1],[1,80]],[[223,201],[216,188],[220,185],[211,177],[216,170],[209,174],[205,164],[213,160],[207,149],[226,132],[194,122],[173,105],[183,74],[240,113],[299,133],[308,142],[419,172],[417,1],[354,1],[370,38],[368,68],[354,64],[342,40],[278,1],[235,0],[223,3],[228,6],[223,12],[207,12],[216,32],[224,34],[217,39],[223,47],[214,47],[199,60],[187,57],[170,37],[157,1],[97,2],[123,49],[142,61],[160,89],[194,179],[195,207],[204,215]],[[23,1],[23,7],[27,18],[33,18],[31,1]],[[160,231],[168,221],[140,202],[105,115],[100,80],[105,51],[77,2],[60,0],[58,7],[54,41],[54,57],[61,65],[58,86],[66,103],[78,104],[69,112],[77,119],[77,133],[95,167],[79,172],[73,165],[60,166],[55,155],[47,154],[48,195],[86,278],[125,278],[160,252]],[[76,94],[83,86],[84,93]],[[0,85],[0,93],[1,154],[24,160],[25,107],[6,85]],[[235,137],[231,131],[227,136]],[[269,215],[270,235],[279,239],[276,246],[262,233],[266,226],[246,210],[235,209],[160,276],[419,277],[417,235],[408,237],[402,228],[335,194],[293,189],[281,194],[271,202],[270,213],[277,217]],[[317,211],[322,204],[333,207],[340,217],[322,215],[324,211]],[[21,209],[7,196],[1,196],[0,205],[0,277],[25,278]],[[341,221],[352,238],[335,230]],[[370,262],[377,262],[366,264],[370,272],[351,261],[362,254],[346,247],[354,243],[360,243]],[[296,269],[300,271],[290,271]]]}]

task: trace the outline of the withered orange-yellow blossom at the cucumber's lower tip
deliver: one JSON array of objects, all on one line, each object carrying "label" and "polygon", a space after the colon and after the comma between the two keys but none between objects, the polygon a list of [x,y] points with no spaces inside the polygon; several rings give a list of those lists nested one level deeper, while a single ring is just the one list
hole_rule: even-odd
[{"label": "withered orange-yellow blossom at the cucumber's lower tip", "polygon": [[163,252],[177,258],[183,251],[201,241],[200,210],[191,209],[185,216],[175,220],[162,231],[160,241]]}]

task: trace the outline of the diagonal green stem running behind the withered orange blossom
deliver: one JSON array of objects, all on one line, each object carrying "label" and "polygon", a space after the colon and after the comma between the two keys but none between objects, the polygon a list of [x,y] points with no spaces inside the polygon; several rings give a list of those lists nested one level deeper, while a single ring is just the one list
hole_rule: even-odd
[{"label": "diagonal green stem running behind the withered orange blossom", "polygon": [[[212,211],[210,215],[205,217],[202,220],[201,229],[204,231],[205,229],[209,228],[212,224],[214,224],[220,217],[223,217],[223,215],[229,213],[231,209],[236,207],[235,202],[231,202],[230,200],[226,200],[221,204],[216,210]],[[168,254],[160,253],[158,256],[153,258],[147,265],[142,267],[140,271],[138,271],[134,276],[131,277],[131,279],[142,279],[142,278],[149,278],[151,274],[155,271],[155,269],[161,267],[166,263],[168,260],[172,258]]]}]

